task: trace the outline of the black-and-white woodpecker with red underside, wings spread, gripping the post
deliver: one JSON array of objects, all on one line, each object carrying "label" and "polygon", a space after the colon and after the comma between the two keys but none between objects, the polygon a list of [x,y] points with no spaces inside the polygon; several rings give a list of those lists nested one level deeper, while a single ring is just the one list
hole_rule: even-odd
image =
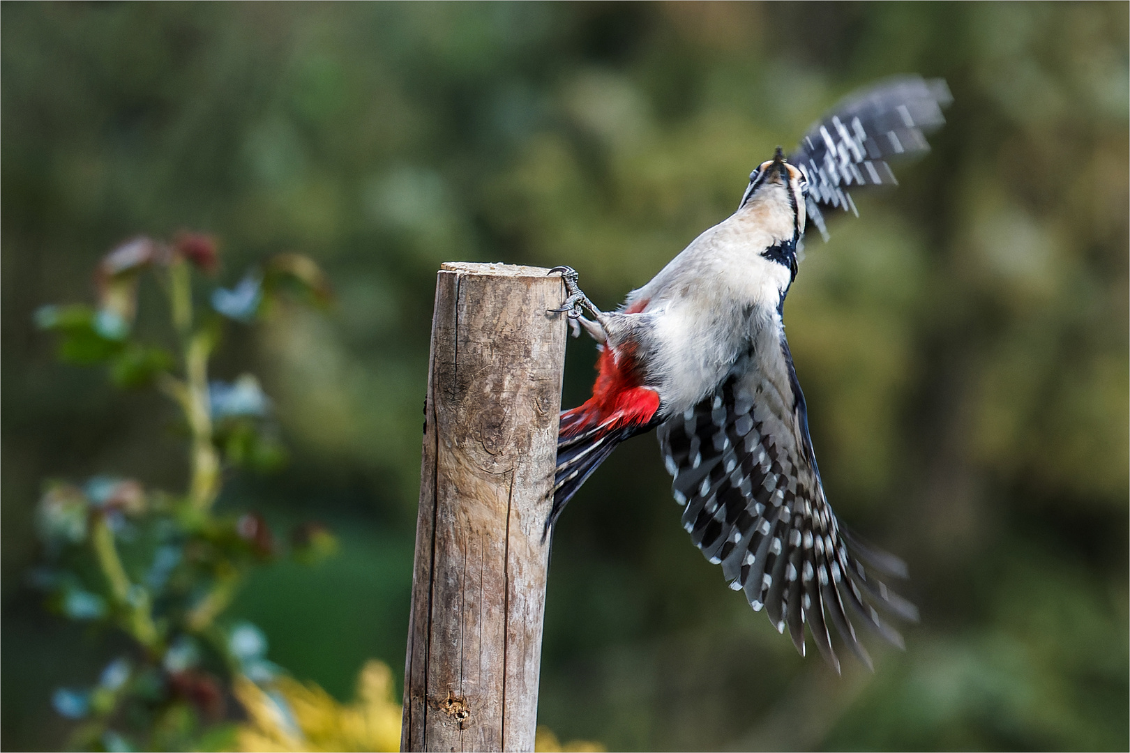
[{"label": "black-and-white woodpecker with red underside, wings spread, gripping the post", "polygon": [[777,147],[749,175],[738,210],[615,312],[589,300],[572,268],[550,271],[568,296],[556,310],[600,354],[592,396],[560,417],[547,534],[617,445],[658,429],[692,541],[755,611],[788,628],[802,656],[808,623],[840,671],[831,622],[871,667],[849,614],[903,645],[876,606],[916,621],[881,579],[905,578],[906,566],[850,534],[828,505],[782,316],[806,229],[827,239],[824,213],[855,211],[849,187],[896,183],[886,159],[928,150],[923,133],[945,122],[949,102],[945,81],[919,77],[849,96],[788,158]]}]

